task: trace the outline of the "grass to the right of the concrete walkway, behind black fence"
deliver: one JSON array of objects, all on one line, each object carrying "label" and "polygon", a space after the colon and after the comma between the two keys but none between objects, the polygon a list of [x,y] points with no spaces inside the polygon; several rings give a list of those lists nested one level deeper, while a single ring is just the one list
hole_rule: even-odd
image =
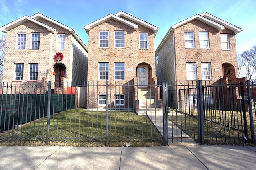
[{"label": "grass to the right of the concrete walkway, behind black fence", "polygon": [[[190,113],[195,113],[193,110]],[[248,135],[250,132],[250,119],[247,112]],[[239,112],[206,110],[205,116],[208,118],[204,121],[204,143],[207,145],[231,145],[248,143],[243,136],[242,125],[244,120]],[[198,118],[189,114],[173,115],[168,117],[172,123],[182,129],[187,135],[198,142]],[[254,133],[256,133],[256,121],[254,114]],[[239,129],[239,130],[238,130]]]}]

